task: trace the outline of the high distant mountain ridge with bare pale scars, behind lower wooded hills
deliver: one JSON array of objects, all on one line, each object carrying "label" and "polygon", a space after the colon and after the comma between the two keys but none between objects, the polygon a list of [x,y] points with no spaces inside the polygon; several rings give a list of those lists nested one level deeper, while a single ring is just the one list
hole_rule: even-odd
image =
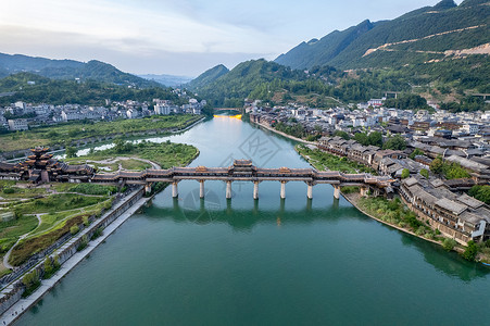
[{"label": "high distant mountain ridge with bare pale scars, behind lower wooded hills", "polygon": [[366,20],[302,42],[275,62],[301,70],[315,65],[345,70],[401,66],[470,53],[490,53],[488,0],[465,0],[460,5],[442,0],[392,21]]}]

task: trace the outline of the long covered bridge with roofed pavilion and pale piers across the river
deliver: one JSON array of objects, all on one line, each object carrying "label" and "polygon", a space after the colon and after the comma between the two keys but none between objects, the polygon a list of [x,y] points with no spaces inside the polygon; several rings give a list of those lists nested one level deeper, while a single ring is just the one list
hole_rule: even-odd
[{"label": "long covered bridge with roofed pavilion and pale piers across the river", "polygon": [[314,168],[259,168],[250,160],[236,160],[229,167],[173,167],[168,170],[146,170],[143,172],[118,172],[114,174],[96,174],[91,183],[98,184],[136,184],[145,185],[150,191],[153,183],[171,183],[172,196],[178,197],[177,185],[180,180],[198,180],[200,197],[204,198],[205,180],[223,180],[226,183],[226,198],[231,198],[233,181],[252,181],[253,198],[259,199],[261,181],[280,181],[280,198],[286,198],[286,183],[303,181],[307,185],[307,198],[313,197],[313,186],[330,184],[335,188],[334,197],[340,197],[340,187],[359,186],[361,195],[372,190],[374,196],[390,196],[393,192],[392,178],[372,176],[369,174],[343,174],[340,172],[318,172]]}]

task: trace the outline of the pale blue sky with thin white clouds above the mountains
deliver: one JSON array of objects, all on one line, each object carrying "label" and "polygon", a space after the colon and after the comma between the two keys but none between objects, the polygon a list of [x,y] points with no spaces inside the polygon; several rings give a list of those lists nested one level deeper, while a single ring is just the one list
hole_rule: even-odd
[{"label": "pale blue sky with thin white clouds above the mountains", "polygon": [[[194,77],[438,0],[2,0],[0,52]],[[462,0],[456,1],[461,3]]]}]

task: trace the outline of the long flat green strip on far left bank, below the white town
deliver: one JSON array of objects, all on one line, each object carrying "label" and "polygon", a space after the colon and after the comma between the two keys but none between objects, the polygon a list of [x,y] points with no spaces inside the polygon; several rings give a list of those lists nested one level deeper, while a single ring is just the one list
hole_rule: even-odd
[{"label": "long flat green strip on far left bank, below the white town", "polygon": [[15,134],[0,135],[0,151],[14,151],[36,146],[52,146],[73,140],[111,134],[142,131],[163,128],[185,128],[197,122],[199,115],[159,115],[139,120],[122,120],[97,123],[66,123],[39,127]]}]

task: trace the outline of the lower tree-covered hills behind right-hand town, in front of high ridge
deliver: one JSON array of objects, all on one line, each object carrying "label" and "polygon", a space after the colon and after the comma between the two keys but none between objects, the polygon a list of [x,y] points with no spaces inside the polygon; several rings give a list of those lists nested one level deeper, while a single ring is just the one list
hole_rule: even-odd
[{"label": "lower tree-covered hills behind right-hand town, in front of high ridge", "polygon": [[[262,100],[271,105],[291,101],[316,108],[340,102],[367,101],[386,91],[399,91],[403,97],[426,105],[426,99],[438,102],[452,98],[450,109],[474,111],[488,109],[481,99],[466,93],[490,92],[490,58],[476,55],[462,60],[420,63],[399,68],[375,68],[342,72],[331,66],[315,66],[307,73],[293,71],[265,60],[248,61],[200,89],[200,96],[215,106],[243,105],[243,99]],[[454,99],[457,99],[454,102]],[[410,105],[395,106],[414,109]],[[477,103],[477,105],[474,105]],[[418,108],[418,109],[420,109]]]}]

